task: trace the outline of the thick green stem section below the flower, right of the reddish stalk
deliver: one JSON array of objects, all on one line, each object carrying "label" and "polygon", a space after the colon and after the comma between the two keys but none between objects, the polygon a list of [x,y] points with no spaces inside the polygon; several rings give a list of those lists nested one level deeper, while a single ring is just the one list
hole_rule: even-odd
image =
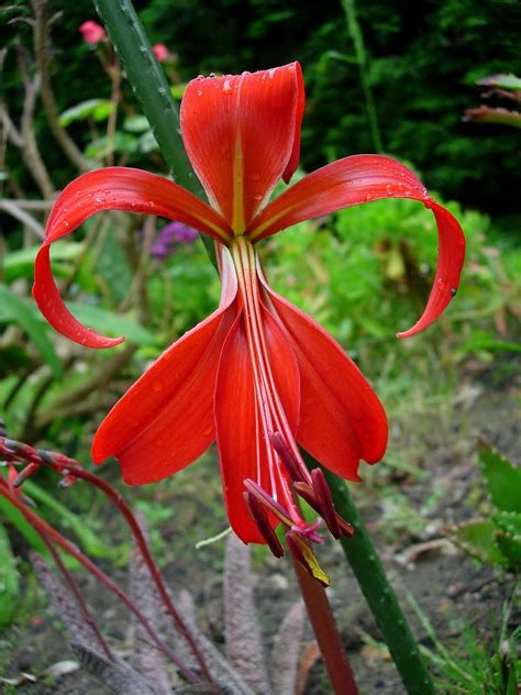
[{"label": "thick green stem section below the flower, right of the reddish stalk", "polygon": [[341,539],[347,562],[384,635],[403,685],[410,695],[434,695],[434,684],[392,586],[370,540],[345,482],[324,470],[336,511],[355,528],[353,538]]}]

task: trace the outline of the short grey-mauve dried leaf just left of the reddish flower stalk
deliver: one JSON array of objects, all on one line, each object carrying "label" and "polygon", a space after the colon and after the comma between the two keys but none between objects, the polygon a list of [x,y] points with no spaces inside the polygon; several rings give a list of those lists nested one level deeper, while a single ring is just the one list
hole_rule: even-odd
[{"label": "short grey-mauve dried leaf just left of the reddish flower stalk", "polygon": [[275,637],[269,670],[274,695],[288,695],[296,691],[304,615],[303,604],[293,604]]}]

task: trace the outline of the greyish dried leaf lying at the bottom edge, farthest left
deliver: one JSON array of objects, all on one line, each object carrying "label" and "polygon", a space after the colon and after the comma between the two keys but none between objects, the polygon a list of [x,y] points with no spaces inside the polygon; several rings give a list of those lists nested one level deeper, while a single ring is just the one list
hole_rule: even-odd
[{"label": "greyish dried leaf lying at the bottom edge, farthest left", "polygon": [[155,695],[146,681],[123,661],[109,661],[78,642],[71,642],[70,647],[87,671],[118,695]]}]

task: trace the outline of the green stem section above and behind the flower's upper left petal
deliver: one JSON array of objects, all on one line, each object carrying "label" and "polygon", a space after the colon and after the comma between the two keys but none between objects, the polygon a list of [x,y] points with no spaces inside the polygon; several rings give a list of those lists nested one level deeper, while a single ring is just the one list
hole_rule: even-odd
[{"label": "green stem section above and behind the flower's upper left petal", "polygon": [[[93,3],[174,178],[187,190],[204,198],[182,144],[179,109],[131,0],[93,0]],[[201,239],[217,266],[213,242],[203,234]]]}]

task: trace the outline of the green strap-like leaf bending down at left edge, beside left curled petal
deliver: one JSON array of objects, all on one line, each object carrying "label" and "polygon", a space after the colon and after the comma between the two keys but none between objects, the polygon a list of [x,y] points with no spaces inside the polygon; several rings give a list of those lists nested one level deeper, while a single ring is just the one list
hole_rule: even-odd
[{"label": "green strap-like leaf bending down at left edge, beside left curled petal", "polygon": [[13,322],[21,326],[33,341],[44,361],[56,378],[62,378],[62,363],[53,343],[42,329],[41,315],[36,306],[15,295],[5,285],[0,285],[0,322]]}]

